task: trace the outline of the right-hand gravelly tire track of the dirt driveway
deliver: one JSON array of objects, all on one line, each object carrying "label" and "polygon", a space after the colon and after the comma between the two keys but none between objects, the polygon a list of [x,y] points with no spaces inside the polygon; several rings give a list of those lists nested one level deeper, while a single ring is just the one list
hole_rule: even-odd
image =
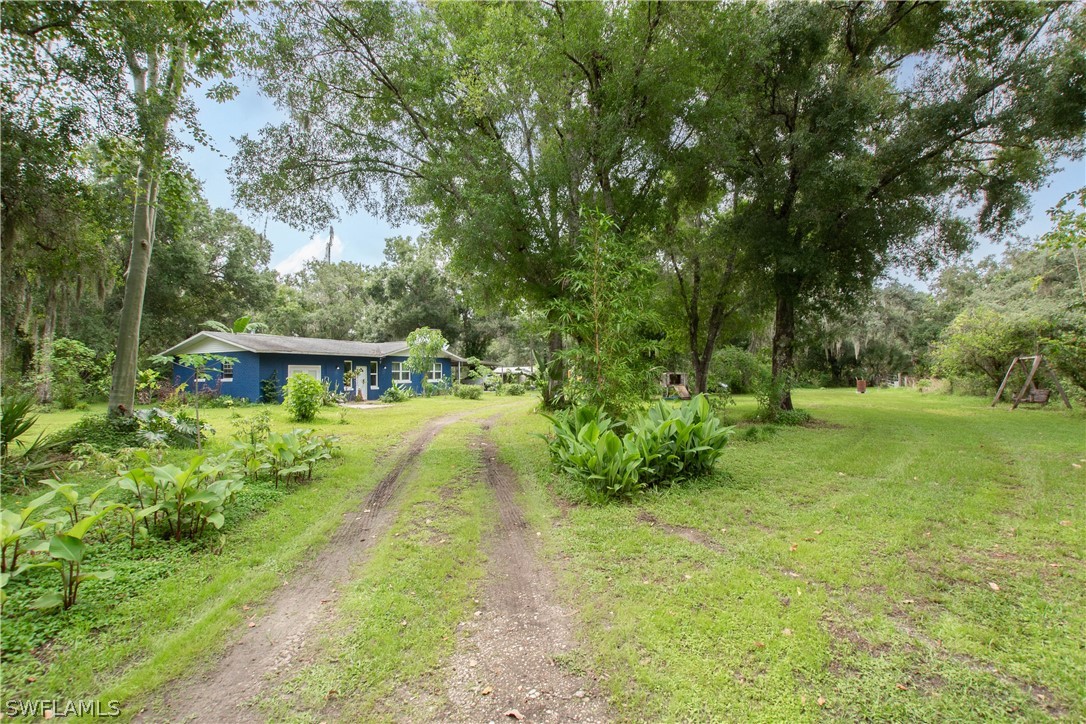
[{"label": "right-hand gravelly tire track of the dirt driveway", "polygon": [[517,710],[526,722],[607,721],[595,682],[560,663],[577,650],[573,612],[557,604],[554,575],[516,501],[516,473],[487,437],[478,445],[498,520],[479,610],[460,625],[446,678],[449,706],[438,719],[512,722],[507,712]]}]

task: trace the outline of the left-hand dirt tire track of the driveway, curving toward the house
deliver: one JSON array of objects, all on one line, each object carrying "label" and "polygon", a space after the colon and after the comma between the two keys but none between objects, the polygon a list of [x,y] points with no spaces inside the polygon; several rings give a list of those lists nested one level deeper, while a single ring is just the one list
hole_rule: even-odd
[{"label": "left-hand dirt tire track of the driveway, curving toward the house", "polygon": [[215,668],[167,693],[165,714],[146,712],[139,721],[264,721],[252,701],[281,678],[319,624],[331,618],[338,584],[395,520],[397,509],[390,504],[418,456],[442,429],[470,414],[450,415],[424,427],[362,506],[349,511],[316,558],[272,595],[264,606],[267,613],[247,624]]}]

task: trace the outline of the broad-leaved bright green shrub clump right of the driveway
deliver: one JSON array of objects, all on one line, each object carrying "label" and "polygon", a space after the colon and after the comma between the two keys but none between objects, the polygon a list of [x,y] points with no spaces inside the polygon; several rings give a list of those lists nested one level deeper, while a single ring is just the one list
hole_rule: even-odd
[{"label": "broad-leaved bright green shrub clump right of the driveway", "polygon": [[622,424],[594,407],[547,417],[556,465],[584,482],[594,497],[630,498],[712,470],[732,429],[721,424],[705,395],[670,407],[657,403],[619,436]]}]

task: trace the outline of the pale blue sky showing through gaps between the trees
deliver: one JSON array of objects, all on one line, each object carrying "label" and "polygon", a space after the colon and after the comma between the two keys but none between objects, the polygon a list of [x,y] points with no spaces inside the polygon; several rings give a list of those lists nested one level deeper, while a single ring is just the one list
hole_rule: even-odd
[{"label": "pale blue sky showing through gaps between the trees", "polygon": [[[254,82],[245,79],[236,82],[241,92],[236,99],[226,103],[207,100],[198,91],[195,100],[200,123],[215,148],[194,145],[185,157],[197,177],[203,181],[204,195],[213,206],[233,211],[257,231],[264,231],[265,224],[267,225],[267,237],[273,244],[272,266],[281,274],[293,274],[300,270],[307,259],[324,256],[328,231],[313,236],[276,221],[269,215],[254,214],[235,205],[230,180],[226,174],[230,157],[236,150],[233,139],[245,134],[255,136],[265,125],[279,123],[285,117],[270,100],[260,93]],[[1033,194],[1030,218],[1023,224],[1019,233],[1025,237],[1039,237],[1047,231],[1050,227],[1047,211],[1061,198],[1084,185],[1086,185],[1086,163],[1064,162],[1062,168],[1049,178],[1048,183]],[[336,221],[333,227],[332,261],[351,261],[367,265],[380,264],[383,261],[384,240],[389,237],[417,237],[421,232],[421,227],[393,227],[386,220],[365,212],[345,216]],[[998,256],[1003,247],[1003,242],[981,240],[973,257],[980,259],[988,255]],[[908,274],[895,276],[914,285],[924,287],[922,280]]]}]

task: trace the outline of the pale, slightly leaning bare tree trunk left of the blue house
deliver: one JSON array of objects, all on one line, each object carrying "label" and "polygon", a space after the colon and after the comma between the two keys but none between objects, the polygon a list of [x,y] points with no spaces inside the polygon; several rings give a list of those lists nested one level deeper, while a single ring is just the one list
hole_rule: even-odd
[{"label": "pale, slightly leaning bare tree trunk left of the blue house", "polygon": [[154,244],[154,204],[157,195],[157,177],[146,164],[141,164],[132,215],[132,250],[125,277],[117,356],[113,363],[113,385],[110,388],[110,415],[130,415],[136,403],[139,327],[143,316],[147,272],[151,266],[151,247]]}]

